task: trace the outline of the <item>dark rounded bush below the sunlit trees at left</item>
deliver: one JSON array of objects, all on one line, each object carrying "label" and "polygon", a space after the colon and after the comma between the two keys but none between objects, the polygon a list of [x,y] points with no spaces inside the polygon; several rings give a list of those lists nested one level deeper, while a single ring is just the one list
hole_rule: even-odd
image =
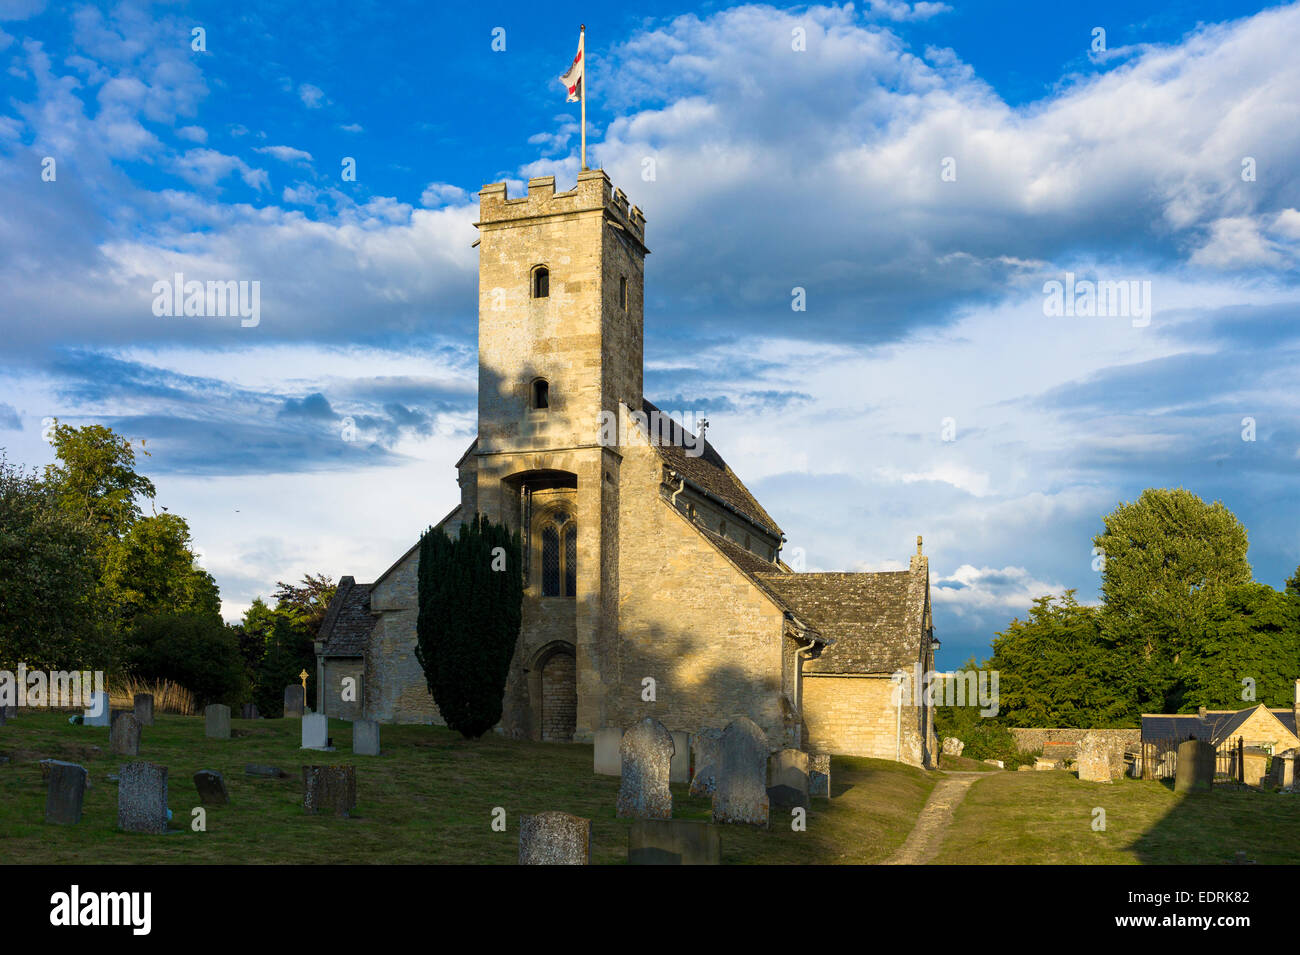
[{"label": "dark rounded bush below the sunlit trees at left", "polygon": [[220,617],[195,613],[140,616],[126,638],[131,676],[187,687],[198,707],[234,707],[248,696],[239,642]]}]

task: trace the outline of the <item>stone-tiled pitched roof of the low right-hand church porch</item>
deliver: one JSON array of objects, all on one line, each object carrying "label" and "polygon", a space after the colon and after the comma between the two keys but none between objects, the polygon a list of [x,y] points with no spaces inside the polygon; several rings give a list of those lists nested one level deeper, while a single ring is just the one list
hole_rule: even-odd
[{"label": "stone-tiled pitched roof of the low right-hand church porch", "polygon": [[920,659],[920,607],[911,570],[757,573],[809,626],[835,642],[807,673],[893,673]]}]

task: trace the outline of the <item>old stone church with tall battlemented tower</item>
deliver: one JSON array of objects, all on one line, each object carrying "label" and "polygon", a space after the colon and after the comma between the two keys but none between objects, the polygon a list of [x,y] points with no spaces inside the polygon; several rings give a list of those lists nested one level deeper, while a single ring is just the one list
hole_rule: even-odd
[{"label": "old stone church with tall battlemented tower", "polygon": [[[478,200],[478,434],[437,526],[484,513],[524,542],[498,730],[590,742],[646,716],[689,733],[748,716],[774,750],[933,765],[932,708],[897,689],[939,646],[920,539],[906,570],[793,570],[718,450],[642,394],[641,210],[599,169]],[[441,722],[415,657],[417,563],[416,539],[373,582],[341,579],[317,712]]]}]

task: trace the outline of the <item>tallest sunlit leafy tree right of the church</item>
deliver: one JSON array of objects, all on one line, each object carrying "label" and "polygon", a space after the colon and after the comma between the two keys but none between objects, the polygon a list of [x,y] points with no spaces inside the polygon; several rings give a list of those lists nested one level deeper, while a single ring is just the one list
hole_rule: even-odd
[{"label": "tallest sunlit leafy tree right of the church", "polygon": [[1101,629],[1135,708],[1176,709],[1183,654],[1228,589],[1251,581],[1245,528],[1183,489],[1148,489],[1104,518]]}]

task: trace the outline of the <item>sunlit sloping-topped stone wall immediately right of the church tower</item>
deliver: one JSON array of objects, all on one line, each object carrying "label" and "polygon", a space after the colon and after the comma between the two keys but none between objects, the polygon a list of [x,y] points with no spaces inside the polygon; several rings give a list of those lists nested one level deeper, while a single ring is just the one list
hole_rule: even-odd
[{"label": "sunlit sloping-topped stone wall immediately right of the church tower", "polygon": [[[671,730],[748,716],[786,746],[781,709],[784,613],[660,495],[663,466],[624,447],[619,534],[619,681],[608,721],[654,716]],[[655,681],[655,702],[642,681]]]}]

